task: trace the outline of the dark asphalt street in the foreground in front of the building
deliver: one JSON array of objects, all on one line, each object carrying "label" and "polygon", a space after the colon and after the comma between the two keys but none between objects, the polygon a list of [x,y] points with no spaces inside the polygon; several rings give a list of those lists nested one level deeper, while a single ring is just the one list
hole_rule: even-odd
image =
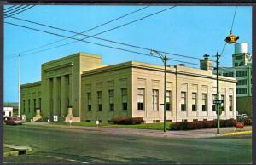
[{"label": "dark asphalt street in the foreground in front of the building", "polygon": [[93,130],[4,126],[3,143],[25,145],[32,153],[4,162],[68,163],[250,163],[252,135],[167,138],[99,134]]}]

